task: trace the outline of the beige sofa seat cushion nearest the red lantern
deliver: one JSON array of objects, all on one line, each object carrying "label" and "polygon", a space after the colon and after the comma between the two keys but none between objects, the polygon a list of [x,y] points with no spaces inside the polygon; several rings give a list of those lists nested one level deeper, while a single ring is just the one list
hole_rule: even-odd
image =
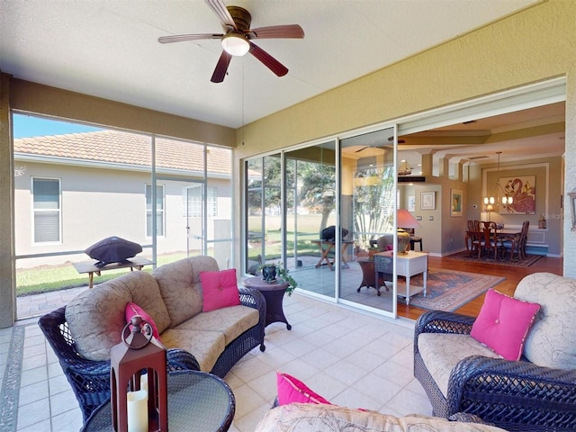
[{"label": "beige sofa seat cushion nearest the red lantern", "polygon": [[200,369],[210,372],[224,351],[224,335],[218,331],[190,331],[167,329],[160,334],[166,348],[180,348],[191,353]]}]

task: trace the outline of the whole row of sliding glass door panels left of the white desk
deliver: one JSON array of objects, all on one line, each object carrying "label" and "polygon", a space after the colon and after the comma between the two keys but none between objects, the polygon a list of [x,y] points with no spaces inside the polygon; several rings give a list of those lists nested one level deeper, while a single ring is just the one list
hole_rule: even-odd
[{"label": "whole row of sliding glass door panels left of the white desk", "polygon": [[394,315],[393,258],[377,277],[372,257],[395,239],[394,131],[247,160],[245,272],[280,261],[305,293]]}]

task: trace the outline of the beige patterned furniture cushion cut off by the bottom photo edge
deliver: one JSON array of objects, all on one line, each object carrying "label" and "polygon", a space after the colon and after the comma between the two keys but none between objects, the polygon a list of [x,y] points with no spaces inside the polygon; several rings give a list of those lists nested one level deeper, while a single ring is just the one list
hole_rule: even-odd
[{"label": "beige patterned furniture cushion cut off by the bottom photo edge", "polygon": [[292,403],[266,412],[256,432],[497,432],[504,429],[410,415],[396,418],[337,405]]}]

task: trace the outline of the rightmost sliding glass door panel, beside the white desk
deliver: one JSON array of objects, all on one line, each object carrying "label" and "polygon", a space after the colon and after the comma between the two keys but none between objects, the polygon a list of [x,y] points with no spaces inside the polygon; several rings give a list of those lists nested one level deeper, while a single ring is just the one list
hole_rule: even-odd
[{"label": "rightmost sliding glass door panel, beside the white desk", "polygon": [[342,245],[342,260],[350,264],[340,273],[339,298],[393,313],[392,257],[374,254],[394,241],[394,128],[342,139],[340,151],[341,223],[350,227],[352,236],[346,239],[353,241],[353,247]]}]

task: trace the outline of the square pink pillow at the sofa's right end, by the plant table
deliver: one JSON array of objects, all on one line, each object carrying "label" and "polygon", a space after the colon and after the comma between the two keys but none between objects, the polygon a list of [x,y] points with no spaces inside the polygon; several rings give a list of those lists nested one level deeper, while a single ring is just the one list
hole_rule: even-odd
[{"label": "square pink pillow at the sofa's right end, by the plant table", "polygon": [[220,272],[202,272],[202,312],[215,311],[240,303],[240,293],[236,282],[236,269]]}]

